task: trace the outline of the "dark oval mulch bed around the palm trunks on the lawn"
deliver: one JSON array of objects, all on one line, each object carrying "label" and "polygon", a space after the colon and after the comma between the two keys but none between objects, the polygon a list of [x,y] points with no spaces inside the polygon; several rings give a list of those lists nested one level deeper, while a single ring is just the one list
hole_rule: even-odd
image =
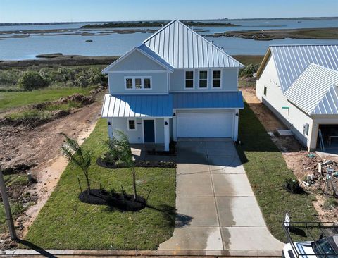
[{"label": "dark oval mulch bed around the palm trunks on the lawn", "polygon": [[123,195],[121,193],[111,195],[100,189],[90,190],[90,195],[85,190],[80,193],[79,199],[81,202],[106,205],[111,207],[111,209],[118,209],[119,211],[139,211],[146,207],[146,199],[142,196],[137,196],[137,200],[134,201],[133,195]]}]

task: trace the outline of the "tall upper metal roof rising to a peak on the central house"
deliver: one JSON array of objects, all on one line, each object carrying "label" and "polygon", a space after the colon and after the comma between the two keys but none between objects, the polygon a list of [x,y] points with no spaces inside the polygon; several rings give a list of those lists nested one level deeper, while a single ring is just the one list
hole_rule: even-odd
[{"label": "tall upper metal roof rising to a peak on the central house", "polygon": [[173,68],[244,67],[179,20],[171,21],[143,43]]}]

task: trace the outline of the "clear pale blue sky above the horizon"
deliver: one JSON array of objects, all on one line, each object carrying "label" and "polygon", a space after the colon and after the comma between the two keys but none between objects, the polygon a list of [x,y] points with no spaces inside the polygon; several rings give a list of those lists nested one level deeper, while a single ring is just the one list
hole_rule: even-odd
[{"label": "clear pale blue sky above the horizon", "polygon": [[0,0],[0,23],[338,16],[338,0]]}]

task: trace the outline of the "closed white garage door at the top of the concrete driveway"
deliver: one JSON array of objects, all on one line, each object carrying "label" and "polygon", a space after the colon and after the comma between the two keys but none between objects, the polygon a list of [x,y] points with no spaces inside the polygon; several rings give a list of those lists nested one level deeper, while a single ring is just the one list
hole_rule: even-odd
[{"label": "closed white garage door at the top of the concrete driveway", "polygon": [[177,113],[177,137],[232,137],[233,113]]}]

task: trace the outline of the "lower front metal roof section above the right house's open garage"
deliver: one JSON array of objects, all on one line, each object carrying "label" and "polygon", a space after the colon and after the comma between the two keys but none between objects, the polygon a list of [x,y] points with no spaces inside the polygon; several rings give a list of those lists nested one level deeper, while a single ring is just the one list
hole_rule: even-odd
[{"label": "lower front metal roof section above the right house's open garage", "polygon": [[284,95],[309,115],[338,114],[337,85],[337,70],[311,63]]}]

